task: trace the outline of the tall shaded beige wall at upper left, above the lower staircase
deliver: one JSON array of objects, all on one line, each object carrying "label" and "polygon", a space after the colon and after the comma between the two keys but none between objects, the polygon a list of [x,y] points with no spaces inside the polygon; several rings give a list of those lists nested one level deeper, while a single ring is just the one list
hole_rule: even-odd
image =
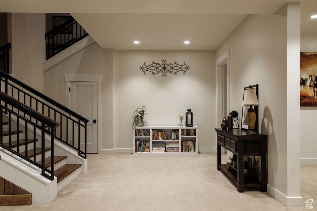
[{"label": "tall shaded beige wall at upper left, above the lower staircase", "polygon": [[[12,73],[18,80],[43,92],[42,62],[45,60],[44,13],[12,13]],[[10,34],[10,33],[9,33]]]}]

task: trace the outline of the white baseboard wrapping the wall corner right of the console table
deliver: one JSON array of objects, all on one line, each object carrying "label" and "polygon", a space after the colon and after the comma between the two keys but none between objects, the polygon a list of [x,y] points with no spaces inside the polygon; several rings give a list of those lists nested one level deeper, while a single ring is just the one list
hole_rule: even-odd
[{"label": "white baseboard wrapping the wall corner right of the console table", "polygon": [[303,198],[301,196],[297,197],[287,197],[282,194],[277,189],[273,188],[269,184],[267,184],[268,193],[273,196],[277,201],[281,202],[286,207],[302,207],[303,206]]}]

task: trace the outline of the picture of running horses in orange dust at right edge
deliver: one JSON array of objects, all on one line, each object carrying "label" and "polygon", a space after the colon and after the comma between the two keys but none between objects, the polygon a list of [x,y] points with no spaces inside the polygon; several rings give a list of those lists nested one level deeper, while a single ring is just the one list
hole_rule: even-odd
[{"label": "picture of running horses in orange dust at right edge", "polygon": [[317,52],[301,52],[301,106],[317,106]]}]

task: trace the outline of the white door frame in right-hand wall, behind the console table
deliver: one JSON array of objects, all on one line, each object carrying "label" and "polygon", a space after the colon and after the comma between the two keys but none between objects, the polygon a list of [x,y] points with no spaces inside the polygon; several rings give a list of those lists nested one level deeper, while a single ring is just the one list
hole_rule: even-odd
[{"label": "white door frame in right-hand wall, behind the console table", "polygon": [[[223,78],[223,65],[227,64],[227,78]],[[229,49],[224,52],[218,59],[216,59],[216,127],[221,127],[221,120],[223,118],[223,81],[227,81],[227,111],[229,112]],[[219,90],[221,95],[219,96]],[[219,111],[219,109],[221,109]],[[226,115],[225,115],[226,116]],[[216,137],[217,146],[217,137]],[[221,147],[221,153],[225,153],[223,147]]]}]

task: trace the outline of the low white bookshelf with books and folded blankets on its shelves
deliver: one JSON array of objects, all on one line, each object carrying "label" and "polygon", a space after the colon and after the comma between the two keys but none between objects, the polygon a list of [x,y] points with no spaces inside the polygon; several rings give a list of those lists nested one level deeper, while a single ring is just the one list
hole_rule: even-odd
[{"label": "low white bookshelf with books and folded blankets on its shelves", "polygon": [[[186,132],[190,132],[188,129],[192,129],[191,131],[194,132],[194,134],[188,134],[186,133],[186,135],[182,135],[182,132],[184,130],[186,130]],[[147,133],[149,134],[149,136],[142,136],[142,135],[138,135],[136,133],[135,130],[146,130]],[[164,131],[166,133],[166,136],[168,139],[154,139],[152,136],[152,133],[154,130],[158,130],[158,131]],[[172,131],[178,131],[179,134],[179,138],[176,140],[171,140],[171,134]],[[192,127],[185,127],[185,126],[146,126],[146,127],[137,127],[136,129],[134,129],[132,131],[133,133],[133,155],[149,155],[149,154],[178,154],[178,155],[189,155],[189,154],[198,154],[198,127],[197,126],[192,126]],[[136,141],[139,140],[140,142],[145,141],[148,142],[149,145],[149,150],[148,152],[136,152]],[[152,152],[152,143],[159,141],[159,142],[164,142],[169,143],[169,142],[174,142],[174,141],[178,141],[179,144],[179,150],[178,152]],[[191,144],[191,146],[194,147],[194,152],[182,152],[186,149],[184,149],[184,147],[182,147],[182,144],[184,146],[184,142],[183,141],[188,141],[187,143],[193,143]],[[183,149],[182,149],[183,148]],[[138,147],[137,147],[138,149]],[[146,150],[146,149],[145,149]]]}]

